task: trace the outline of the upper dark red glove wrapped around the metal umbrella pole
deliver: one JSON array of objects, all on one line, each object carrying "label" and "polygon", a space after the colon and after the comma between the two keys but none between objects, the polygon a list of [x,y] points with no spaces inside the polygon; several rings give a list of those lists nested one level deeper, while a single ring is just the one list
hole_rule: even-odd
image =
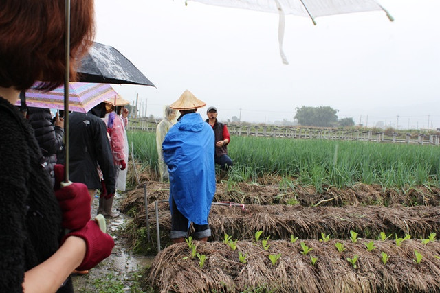
[{"label": "upper dark red glove wrapped around the metal umbrella pole", "polygon": [[60,188],[60,173],[64,175],[64,166],[55,165],[55,197],[63,212],[61,226],[69,230],[83,228],[90,220],[91,198],[87,186],[83,183],[72,183]]}]

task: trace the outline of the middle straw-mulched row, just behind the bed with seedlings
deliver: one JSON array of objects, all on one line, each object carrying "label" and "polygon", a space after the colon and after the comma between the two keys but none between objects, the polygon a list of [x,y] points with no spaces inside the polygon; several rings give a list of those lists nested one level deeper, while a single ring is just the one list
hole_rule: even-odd
[{"label": "middle straw-mulched row, just behind the bed with seedlings", "polygon": [[[139,204],[142,202],[142,204]],[[133,213],[135,228],[146,226],[143,199],[137,201],[138,209]],[[169,242],[170,211],[168,202],[159,202],[159,228],[161,243]],[[350,230],[360,237],[377,238],[381,232],[404,237],[428,237],[440,231],[440,207],[301,207],[282,204],[243,206],[212,205],[210,211],[210,240],[219,241],[225,233],[235,239],[252,239],[256,231],[263,231],[271,239],[290,239],[291,235],[301,239],[319,239],[321,233],[332,238],[347,239]],[[156,226],[155,204],[148,206],[148,221],[151,230]],[[137,237],[137,234],[131,235]],[[133,243],[137,239],[131,239]]]}]

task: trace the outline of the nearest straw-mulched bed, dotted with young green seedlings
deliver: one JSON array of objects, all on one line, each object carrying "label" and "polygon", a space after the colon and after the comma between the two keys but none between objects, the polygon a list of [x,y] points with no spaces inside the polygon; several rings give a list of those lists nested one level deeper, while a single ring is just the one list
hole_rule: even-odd
[{"label": "nearest straw-mulched bed, dotted with young green seedlings", "polygon": [[[199,258],[191,258],[188,244],[162,250],[144,274],[144,284],[157,292],[440,292],[440,243],[421,244],[420,240],[375,240],[369,252],[364,243],[342,241],[347,248],[340,253],[337,240],[304,240],[311,252],[303,255],[302,240],[261,240],[236,242],[236,250],[222,242],[193,242]],[[415,250],[423,258],[415,263]],[[239,261],[239,252],[247,255]],[[381,253],[389,256],[386,264]],[[280,258],[272,264],[270,255]],[[353,266],[347,258],[358,255]],[[316,257],[312,265],[311,256]],[[185,259],[185,257],[188,257]],[[254,290],[254,291],[252,291]],[[258,291],[257,291],[258,290]]]}]

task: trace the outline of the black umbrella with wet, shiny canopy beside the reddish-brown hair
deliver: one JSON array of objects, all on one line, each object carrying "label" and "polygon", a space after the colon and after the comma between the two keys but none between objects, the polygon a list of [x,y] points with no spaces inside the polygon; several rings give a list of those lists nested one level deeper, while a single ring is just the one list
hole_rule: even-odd
[{"label": "black umbrella with wet, shiny canopy beside the reddish-brown hair", "polygon": [[79,82],[155,86],[120,51],[96,42],[80,60],[77,72]]}]

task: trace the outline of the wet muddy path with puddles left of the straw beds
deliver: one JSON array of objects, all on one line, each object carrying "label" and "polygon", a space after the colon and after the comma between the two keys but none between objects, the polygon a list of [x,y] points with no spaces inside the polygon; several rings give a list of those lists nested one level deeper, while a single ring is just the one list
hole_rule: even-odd
[{"label": "wet muddy path with puddles left of the straw beds", "polygon": [[[116,194],[113,209],[118,209],[123,195]],[[98,198],[94,200],[92,215],[96,215]],[[120,237],[120,229],[130,218],[120,213],[118,218],[106,220],[107,233],[115,240],[115,247],[107,259],[104,259],[89,274],[72,276],[75,292],[144,292],[140,288],[140,272],[150,266],[153,257],[134,255],[126,240]]]}]

